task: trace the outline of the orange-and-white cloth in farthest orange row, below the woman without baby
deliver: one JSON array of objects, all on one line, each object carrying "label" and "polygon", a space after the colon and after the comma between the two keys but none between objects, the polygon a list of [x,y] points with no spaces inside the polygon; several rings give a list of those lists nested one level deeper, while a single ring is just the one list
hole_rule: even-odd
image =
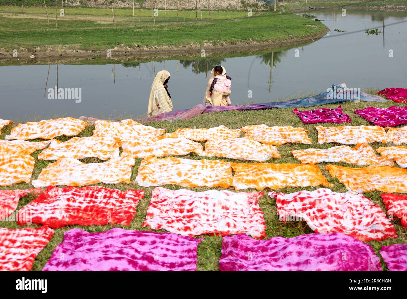
[{"label": "orange-and-white cloth in farthest orange row, below the woman without baby", "polygon": [[157,138],[165,133],[165,129],[156,129],[147,127],[131,119],[122,120],[121,122],[110,122],[108,120],[97,120],[94,137],[111,136],[120,138],[120,140],[134,139],[138,137]]}]

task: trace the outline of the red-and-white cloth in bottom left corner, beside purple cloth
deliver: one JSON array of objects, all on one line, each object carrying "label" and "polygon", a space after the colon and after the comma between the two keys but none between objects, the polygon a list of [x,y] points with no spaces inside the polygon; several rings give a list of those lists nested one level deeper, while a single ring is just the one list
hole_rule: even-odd
[{"label": "red-and-white cloth in bottom left corner, beside purple cloth", "polygon": [[30,271],[37,254],[54,234],[47,226],[39,228],[0,228],[0,271]]}]

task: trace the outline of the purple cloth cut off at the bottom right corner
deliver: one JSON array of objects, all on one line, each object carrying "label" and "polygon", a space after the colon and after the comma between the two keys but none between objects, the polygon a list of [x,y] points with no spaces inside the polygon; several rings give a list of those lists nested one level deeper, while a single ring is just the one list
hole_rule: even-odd
[{"label": "purple cloth cut off at the bottom right corner", "polygon": [[383,246],[380,254],[390,271],[407,271],[407,244]]}]

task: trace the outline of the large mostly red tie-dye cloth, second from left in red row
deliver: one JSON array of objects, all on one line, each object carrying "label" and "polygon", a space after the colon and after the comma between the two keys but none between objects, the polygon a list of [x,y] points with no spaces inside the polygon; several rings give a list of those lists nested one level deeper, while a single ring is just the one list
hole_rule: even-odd
[{"label": "large mostly red tie-dye cloth, second from left in red row", "polygon": [[[143,190],[120,191],[103,187],[48,186],[35,200],[20,209],[19,213],[31,215],[32,223],[57,228],[65,225],[130,225],[136,214]],[[18,220],[26,225],[26,220]]]}]

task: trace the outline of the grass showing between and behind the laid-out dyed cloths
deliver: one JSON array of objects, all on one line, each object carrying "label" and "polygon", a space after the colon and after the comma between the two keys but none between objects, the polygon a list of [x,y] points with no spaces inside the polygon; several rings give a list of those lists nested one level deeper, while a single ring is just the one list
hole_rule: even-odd
[{"label": "grass showing between and behind the laid-out dyed cloths", "polygon": [[[373,93],[375,91],[370,90],[370,93]],[[352,119],[352,126],[357,126],[357,125],[369,125],[367,121],[365,121],[363,118],[357,116],[356,114],[353,113],[354,110],[356,109],[363,109],[365,107],[369,106],[375,106],[375,107],[390,107],[390,106],[404,106],[402,104],[397,104],[392,101],[389,101],[387,103],[344,103],[342,104],[342,109],[345,113],[348,113],[350,118]],[[338,105],[324,105],[326,108],[336,108]],[[300,109],[300,110],[309,110],[309,108],[306,109]],[[155,122],[151,123],[148,125],[152,125],[153,127],[160,127],[160,128],[166,128],[167,133],[171,133],[175,131],[175,129],[180,128],[180,127],[194,127],[196,126],[197,128],[199,127],[216,127],[221,124],[231,128],[231,129],[236,129],[240,128],[245,125],[250,125],[250,124],[267,124],[268,126],[274,126],[274,125],[280,125],[280,126],[293,126],[293,127],[305,127],[306,129],[309,129],[309,137],[313,139],[312,145],[304,145],[304,144],[284,144],[281,146],[278,146],[278,150],[281,153],[281,158],[280,159],[271,159],[267,162],[269,163],[299,163],[298,160],[294,159],[294,157],[289,153],[291,150],[294,149],[304,149],[304,148],[329,148],[332,146],[337,146],[339,144],[322,144],[318,145],[317,144],[317,131],[315,130],[315,125],[311,124],[303,124],[300,119],[292,112],[292,109],[269,109],[269,110],[263,110],[263,111],[229,111],[229,112],[220,112],[220,113],[210,113],[210,114],[203,114],[200,116],[197,116],[192,119],[188,120],[180,120],[176,122]],[[323,124],[328,127],[332,126],[337,126],[339,124]],[[94,129],[93,126],[88,126],[83,132],[79,134],[80,137],[83,136],[91,136],[92,135],[92,130]],[[4,139],[4,136],[6,134],[9,134],[11,130],[11,126],[5,127],[2,129],[0,138]],[[67,137],[58,137],[57,139],[64,141],[67,140]],[[379,143],[373,143],[371,144],[373,148],[378,148],[379,146],[384,146],[383,144]],[[386,144],[386,146],[392,146],[393,144],[389,143]],[[40,151],[37,151],[33,153],[33,157],[37,158],[37,155],[40,153]],[[187,159],[203,159],[203,157],[199,157],[196,154],[190,154],[187,156],[184,156],[184,158]],[[209,157],[208,159],[219,159],[221,160],[222,158],[214,158],[214,157]],[[133,174],[131,176],[131,180],[134,181],[137,175],[137,170],[138,166],[140,165],[142,159],[136,159],[136,165],[133,168]],[[242,162],[239,160],[234,160],[234,159],[224,159],[226,161],[230,162]],[[83,160],[86,163],[90,162],[102,162],[101,160],[90,158],[90,159],[84,159]],[[43,168],[45,168],[49,163],[52,163],[53,161],[50,162],[45,162],[45,161],[37,161],[35,164],[35,169],[33,172],[33,177],[32,179],[37,179],[39,173]],[[245,163],[245,162],[243,162]],[[246,162],[248,163],[248,162]],[[337,179],[332,178],[328,171],[324,170],[324,167],[329,163],[320,163],[318,164],[319,168],[322,170],[322,173],[324,176],[328,179],[330,183],[333,183],[335,187],[331,188],[334,192],[346,192],[346,188],[339,183]],[[350,164],[343,164],[343,163],[333,163],[333,164],[338,164],[342,166],[350,166],[350,167],[361,167],[361,166],[354,166]],[[396,166],[397,167],[397,166]],[[66,226],[62,227],[59,229],[55,229],[55,234],[52,238],[52,240],[49,242],[49,244],[46,246],[46,248],[39,253],[37,256],[33,270],[39,271],[41,268],[44,266],[44,264],[47,262],[47,260],[50,258],[51,253],[54,251],[55,247],[63,241],[63,233],[65,231],[68,231],[69,229],[72,229],[74,227],[94,232],[94,231],[106,231],[109,229],[112,229],[113,227],[121,227],[125,229],[133,229],[133,230],[150,230],[149,228],[143,228],[142,223],[144,222],[146,213],[147,213],[147,207],[149,205],[149,201],[151,199],[151,191],[153,188],[144,188],[138,186],[136,183],[131,183],[129,185],[125,184],[117,184],[117,185],[106,185],[106,184],[98,184],[98,186],[105,186],[107,188],[117,188],[120,190],[126,190],[126,189],[140,189],[140,190],[146,190],[145,192],[145,197],[144,199],[140,200],[138,207],[137,207],[137,213],[135,218],[133,218],[131,225],[129,227],[124,227],[122,225],[105,225],[105,226],[89,226],[89,227],[84,227],[84,226]],[[167,185],[163,186],[164,188],[169,188],[169,189],[182,189],[180,186],[176,185]],[[26,189],[26,188],[33,188],[31,184],[27,183],[21,183],[21,184],[16,184],[13,185],[9,188],[7,187],[2,187],[3,189]],[[217,188],[218,190],[222,190],[222,188]],[[315,190],[317,187],[309,187],[309,188],[284,188],[281,191],[284,193],[291,193],[291,192],[297,192],[300,190]],[[204,191],[204,190],[210,190],[210,188],[191,188],[191,190],[194,191]],[[229,188],[228,190],[234,191],[234,188]],[[254,189],[247,189],[243,190],[244,192],[251,192],[251,191],[256,191]],[[276,202],[274,199],[270,199],[267,196],[267,193],[270,192],[271,189],[266,188],[263,190],[264,194],[263,197],[261,197],[259,204],[261,209],[264,212],[265,216],[265,221],[267,225],[267,237],[274,237],[274,236],[283,236],[285,238],[290,238],[294,236],[298,236],[301,234],[310,234],[313,231],[306,225],[304,221],[299,221],[299,222],[287,222],[286,224],[280,222],[278,220],[278,215],[276,211]],[[385,207],[383,203],[381,202],[381,192],[367,192],[364,193],[364,195],[368,198],[370,198],[374,203],[379,204],[381,209],[383,211],[385,210]],[[33,196],[28,196],[24,199],[20,200],[20,203],[18,205],[18,210],[32,201],[34,199]],[[398,234],[398,238],[395,239],[386,239],[384,241],[378,242],[378,241],[372,241],[368,242],[373,248],[376,254],[379,254],[379,249],[384,246],[384,245],[389,245],[389,244],[404,244],[407,243],[407,233],[405,227],[400,225],[400,220],[398,218],[394,218],[392,220],[392,223],[396,227],[396,232]],[[1,227],[7,227],[7,228],[17,228],[19,227],[16,222],[0,222]],[[31,227],[39,227],[40,225],[31,225]],[[164,232],[164,230],[159,230],[160,232]],[[208,236],[204,235],[201,236],[204,238],[204,240],[201,242],[201,244],[198,247],[198,266],[197,269],[199,271],[217,271],[219,269],[219,258],[221,257],[221,245],[222,245],[222,238],[221,237],[216,237],[216,236]],[[199,237],[198,237],[199,238]],[[382,266],[383,270],[387,270],[387,267],[385,266],[383,260],[382,260]]]}]

